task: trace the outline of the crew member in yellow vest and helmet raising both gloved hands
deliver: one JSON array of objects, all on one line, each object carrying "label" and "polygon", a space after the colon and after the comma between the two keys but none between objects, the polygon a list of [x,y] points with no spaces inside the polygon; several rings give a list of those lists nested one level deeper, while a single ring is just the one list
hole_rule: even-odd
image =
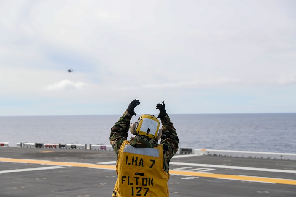
[{"label": "crew member in yellow vest and helmet raising both gloved hands", "polygon": [[[116,153],[118,175],[112,196],[169,196],[169,162],[179,149],[179,138],[165,103],[158,103],[157,118],[150,114],[141,115],[138,122],[131,124],[133,136],[127,140],[130,120],[139,100],[133,100],[117,123],[111,128],[110,143]],[[160,144],[158,140],[161,139]]]}]

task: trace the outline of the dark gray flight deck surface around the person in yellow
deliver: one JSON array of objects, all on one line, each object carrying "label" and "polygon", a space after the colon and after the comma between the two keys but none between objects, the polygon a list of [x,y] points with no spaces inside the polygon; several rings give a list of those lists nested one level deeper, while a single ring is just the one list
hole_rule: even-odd
[{"label": "dark gray flight deck surface around the person in yellow", "polygon": [[[173,157],[170,170],[296,180],[296,161],[220,156],[186,156],[188,155],[176,155]],[[16,147],[0,147],[0,157],[2,160],[3,158],[36,159],[91,164],[110,162],[105,163],[105,165],[109,166],[115,165],[114,161],[116,160],[115,153],[112,151]],[[204,167],[202,164],[207,164],[208,167]],[[112,196],[117,178],[115,170],[69,166],[58,168],[54,166],[59,165],[0,162],[0,196]],[[253,168],[234,169],[236,167],[233,166]],[[43,167],[50,167],[52,169]],[[39,170],[32,170],[31,168],[38,168]],[[24,171],[23,169],[31,170]],[[284,172],[277,172],[277,170],[284,170]],[[182,173],[182,171],[180,172]],[[171,174],[168,185],[171,197],[296,196],[296,185],[294,184],[262,183],[255,182],[256,180],[256,178],[254,181],[245,181]]]}]

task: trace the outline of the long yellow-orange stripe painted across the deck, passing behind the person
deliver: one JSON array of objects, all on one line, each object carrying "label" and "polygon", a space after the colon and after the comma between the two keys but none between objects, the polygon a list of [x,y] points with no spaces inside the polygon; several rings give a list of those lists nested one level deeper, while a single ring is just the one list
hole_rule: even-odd
[{"label": "long yellow-orange stripe painted across the deck, passing behind the person", "polygon": [[[112,166],[112,165],[99,165],[99,164],[88,164],[88,163],[54,162],[54,161],[45,161],[45,160],[12,159],[12,158],[0,158],[0,161],[1,162],[15,162],[15,163],[45,164],[45,165],[46,164],[47,165],[61,165],[61,166],[69,166],[69,167],[70,166],[91,167],[91,168],[99,168],[99,169],[106,169],[106,170],[115,170],[115,166]],[[188,171],[179,171],[179,170],[170,170],[170,174],[296,185],[296,180],[293,180],[293,179],[251,177],[251,176],[239,176],[239,175],[223,175],[223,174],[210,174],[210,173],[208,174],[208,173],[188,172]]]}]

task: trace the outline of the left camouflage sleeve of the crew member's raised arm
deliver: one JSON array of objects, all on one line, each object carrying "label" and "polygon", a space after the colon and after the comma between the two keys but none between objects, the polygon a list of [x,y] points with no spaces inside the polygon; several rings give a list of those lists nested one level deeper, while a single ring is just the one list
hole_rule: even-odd
[{"label": "left camouflage sleeve of the crew member's raised arm", "polygon": [[128,137],[128,130],[130,126],[132,115],[126,110],[119,118],[118,122],[111,128],[109,141],[118,157],[118,152],[123,141]]}]

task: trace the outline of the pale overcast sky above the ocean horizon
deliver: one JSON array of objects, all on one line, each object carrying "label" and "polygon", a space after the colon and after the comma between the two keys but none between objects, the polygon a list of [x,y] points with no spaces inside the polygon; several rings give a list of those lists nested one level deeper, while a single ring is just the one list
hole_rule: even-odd
[{"label": "pale overcast sky above the ocean horizon", "polygon": [[[296,1],[0,1],[0,116],[295,113]],[[68,69],[73,72],[67,72]]]}]

